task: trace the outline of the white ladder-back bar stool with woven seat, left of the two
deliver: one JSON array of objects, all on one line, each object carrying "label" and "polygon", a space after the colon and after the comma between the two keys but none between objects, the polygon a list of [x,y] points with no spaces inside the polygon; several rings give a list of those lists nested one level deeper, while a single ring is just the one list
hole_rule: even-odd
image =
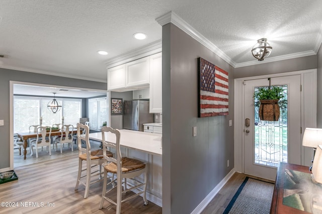
[{"label": "white ladder-back bar stool with woven seat, left of the two", "polygon": [[[78,174],[75,185],[75,190],[78,189],[79,182],[85,185],[84,198],[87,198],[89,195],[90,185],[102,179],[102,163],[104,162],[103,150],[91,150],[90,138],[89,138],[89,129],[88,125],[83,125],[77,123],[77,146],[78,146]],[[81,130],[84,130],[84,134],[81,134]],[[82,141],[85,142],[86,148],[82,147]],[[110,156],[113,156],[113,153],[110,152]],[[83,161],[86,161],[86,168],[83,169]],[[99,166],[98,170],[92,171],[93,167]],[[86,174],[82,171],[86,171]],[[98,175],[98,177],[97,177]],[[93,177],[93,179],[91,179]],[[82,181],[82,178],[86,178],[85,182]]]}]

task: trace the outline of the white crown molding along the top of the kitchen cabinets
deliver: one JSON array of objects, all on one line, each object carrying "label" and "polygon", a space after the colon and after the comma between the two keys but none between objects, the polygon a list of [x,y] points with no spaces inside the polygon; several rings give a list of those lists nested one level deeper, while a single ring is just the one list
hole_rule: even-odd
[{"label": "white crown molding along the top of the kitchen cabinets", "polygon": [[134,49],[125,54],[118,55],[113,57],[107,61],[105,61],[106,68],[112,68],[118,65],[122,65],[124,63],[131,62],[133,60],[137,60],[143,57],[150,56],[152,54],[156,54],[162,52],[162,40],[157,40],[153,43],[149,43],[140,48]]}]

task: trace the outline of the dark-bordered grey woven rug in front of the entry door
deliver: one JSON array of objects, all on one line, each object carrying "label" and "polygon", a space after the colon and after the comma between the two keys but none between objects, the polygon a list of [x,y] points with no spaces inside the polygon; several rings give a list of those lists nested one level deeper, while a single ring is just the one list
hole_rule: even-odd
[{"label": "dark-bordered grey woven rug in front of the entry door", "polygon": [[274,184],[246,177],[223,213],[270,213]]}]

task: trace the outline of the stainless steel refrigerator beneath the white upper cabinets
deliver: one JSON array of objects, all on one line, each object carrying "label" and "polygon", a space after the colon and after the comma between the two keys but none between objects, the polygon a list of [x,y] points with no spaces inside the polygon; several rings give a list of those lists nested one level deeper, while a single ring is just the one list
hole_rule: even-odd
[{"label": "stainless steel refrigerator beneath the white upper cabinets", "polygon": [[123,128],[143,131],[143,123],[153,123],[153,114],[149,113],[149,101],[124,101]]}]

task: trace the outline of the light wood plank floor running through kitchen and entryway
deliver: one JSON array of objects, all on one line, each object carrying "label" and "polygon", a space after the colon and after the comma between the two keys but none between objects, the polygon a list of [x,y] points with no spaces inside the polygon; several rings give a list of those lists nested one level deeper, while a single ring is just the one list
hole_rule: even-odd
[{"label": "light wood plank floor running through kitchen and entryway", "polygon": [[[31,163],[35,158],[27,154],[28,164],[31,165],[15,166],[19,179],[0,184],[0,201],[18,202],[18,206],[0,206],[0,213],[115,213],[116,206],[107,201],[103,209],[98,208],[102,195],[102,182],[91,185],[89,197],[86,199],[83,198],[85,191],[83,185],[80,185],[78,190],[74,190],[78,167],[77,150],[72,153],[63,151],[62,155],[60,151],[52,151],[51,156],[42,153],[39,156],[42,162],[34,164]],[[17,159],[19,161],[15,159],[15,163],[24,161],[21,157]],[[39,160],[34,160],[34,162]],[[253,177],[234,173],[201,213],[222,213],[246,176]],[[21,202],[25,204],[25,207]],[[122,204],[121,213],[157,214],[162,213],[162,207],[150,201],[144,206],[143,199],[135,197]]]}]

